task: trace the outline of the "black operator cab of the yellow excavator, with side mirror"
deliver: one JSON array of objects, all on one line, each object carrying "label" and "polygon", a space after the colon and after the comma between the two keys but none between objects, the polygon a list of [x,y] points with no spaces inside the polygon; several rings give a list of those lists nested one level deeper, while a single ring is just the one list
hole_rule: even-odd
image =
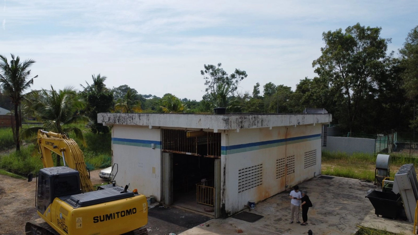
[{"label": "black operator cab of the yellow excavator, with side mirror", "polygon": [[41,169],[36,182],[36,209],[44,214],[54,198],[79,194],[81,192],[79,178],[79,172],[69,167]]}]

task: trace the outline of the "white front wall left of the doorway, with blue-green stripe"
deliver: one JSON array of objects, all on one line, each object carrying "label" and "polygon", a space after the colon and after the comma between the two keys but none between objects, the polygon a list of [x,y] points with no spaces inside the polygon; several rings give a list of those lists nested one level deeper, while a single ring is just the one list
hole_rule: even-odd
[{"label": "white front wall left of the doorway, with blue-green stripe", "polygon": [[[115,125],[112,128],[113,162],[119,165],[115,177],[118,185],[149,196],[161,195],[160,129]],[[155,144],[155,149],[151,144]]]}]

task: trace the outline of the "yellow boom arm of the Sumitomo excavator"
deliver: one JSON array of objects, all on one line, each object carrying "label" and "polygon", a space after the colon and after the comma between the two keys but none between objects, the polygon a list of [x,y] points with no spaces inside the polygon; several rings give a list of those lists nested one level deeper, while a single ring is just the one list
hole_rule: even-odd
[{"label": "yellow boom arm of the Sumitomo excavator", "polygon": [[51,153],[54,152],[63,158],[64,166],[75,169],[80,173],[82,192],[94,191],[86,163],[84,162],[83,152],[74,139],[69,139],[66,134],[39,130],[38,150],[40,150],[42,155],[43,167],[54,167]]}]

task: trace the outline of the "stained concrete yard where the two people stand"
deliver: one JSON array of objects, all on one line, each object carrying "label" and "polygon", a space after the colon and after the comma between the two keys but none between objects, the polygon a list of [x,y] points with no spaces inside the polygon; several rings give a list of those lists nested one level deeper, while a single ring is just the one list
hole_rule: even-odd
[{"label": "stained concrete yard where the two people stand", "polygon": [[[374,227],[391,232],[413,234],[413,223],[403,220],[377,217],[375,209],[368,198],[367,190],[377,189],[373,183],[358,179],[334,177],[333,179],[313,178],[299,184],[299,189],[308,191],[314,205],[308,211],[308,225],[301,226],[290,221],[289,192],[282,192],[256,205],[252,213],[264,217],[256,222],[246,222],[232,217],[212,219],[201,225],[186,230],[181,235],[229,235],[241,234],[290,235],[307,234],[312,230],[314,235],[352,235],[358,227]],[[300,212],[302,220],[302,212]]]}]

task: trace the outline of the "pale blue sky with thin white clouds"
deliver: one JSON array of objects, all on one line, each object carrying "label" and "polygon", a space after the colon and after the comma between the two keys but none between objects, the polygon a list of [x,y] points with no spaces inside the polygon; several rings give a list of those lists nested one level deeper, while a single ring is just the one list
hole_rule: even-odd
[{"label": "pale blue sky with thin white clouds", "polygon": [[107,76],[108,88],[201,100],[204,64],[247,72],[240,93],[314,78],[322,33],[381,27],[398,52],[418,25],[416,0],[4,0],[0,54],[34,59],[32,89]]}]

